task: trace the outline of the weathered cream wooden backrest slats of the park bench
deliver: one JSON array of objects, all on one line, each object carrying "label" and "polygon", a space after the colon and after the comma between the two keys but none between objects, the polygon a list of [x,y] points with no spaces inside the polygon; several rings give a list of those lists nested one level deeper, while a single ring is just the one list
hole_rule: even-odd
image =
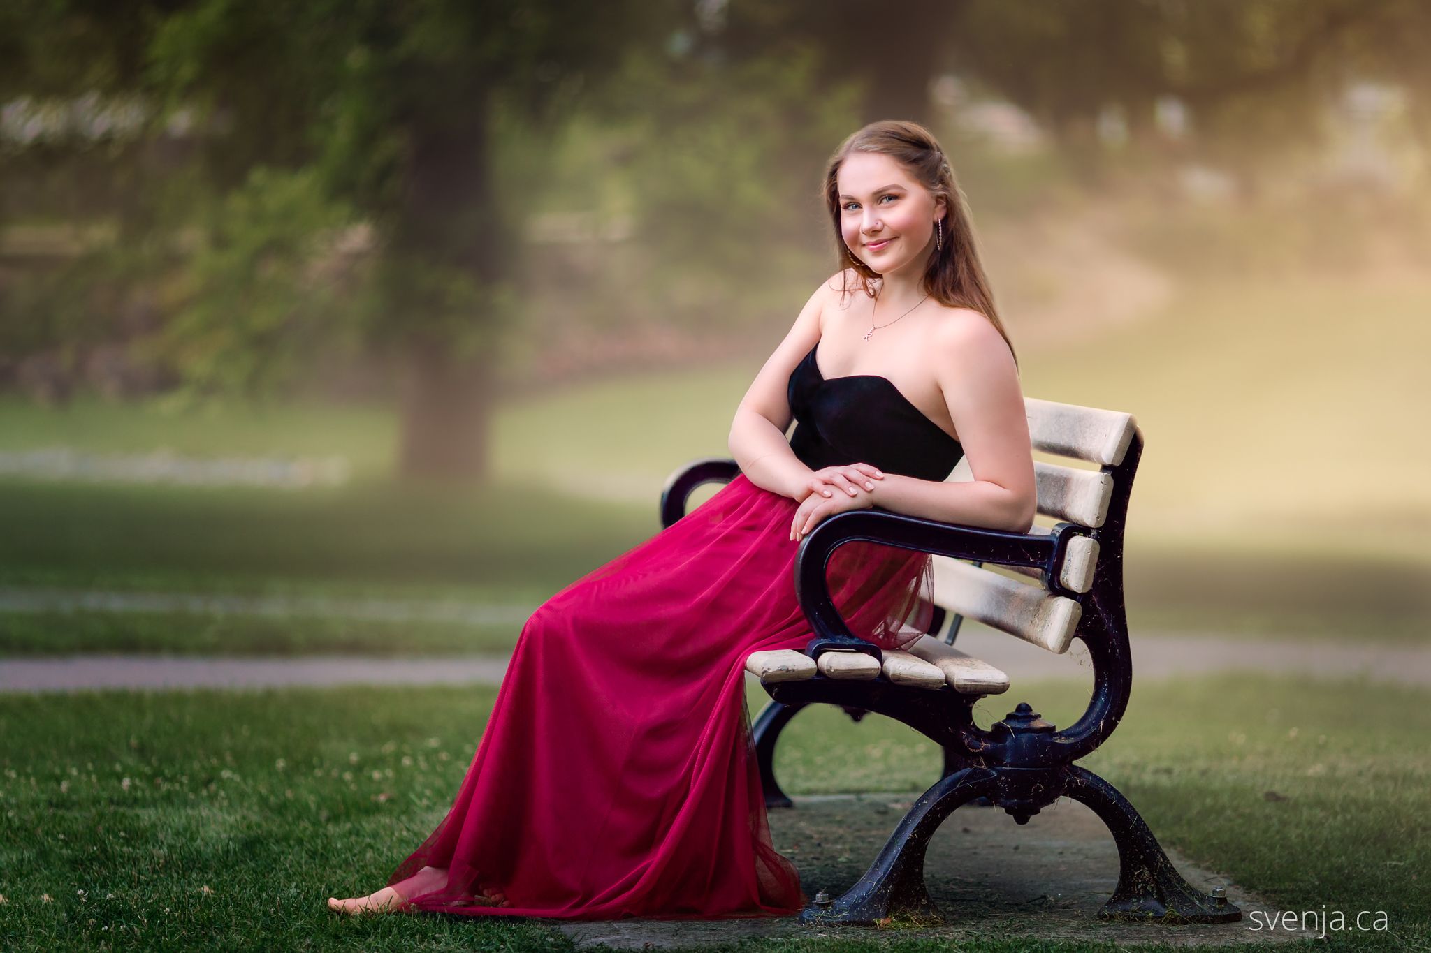
[{"label": "weathered cream wooden backrest slats of the park bench", "polygon": [[[1115,474],[1122,471],[1125,482],[1132,479],[1132,467],[1122,464],[1138,434],[1138,421],[1116,410],[1033,397],[1025,399],[1025,407],[1035,450],[1099,466],[1090,470],[1042,460],[1033,464],[1039,514],[1089,530],[1086,537],[1070,543],[1058,580],[1063,590],[1088,593],[1099,557],[1108,547],[1122,552],[1120,524],[1118,533],[1106,532],[1105,524],[1115,499]],[[964,460],[949,476],[952,482],[970,479]],[[1035,526],[1030,532],[1047,533],[1049,527]],[[1068,652],[1082,617],[1082,599],[1052,592],[1040,570],[1017,570],[1036,582],[1022,582],[1006,572],[934,556],[933,592],[924,596],[937,606],[1049,652]]]}]

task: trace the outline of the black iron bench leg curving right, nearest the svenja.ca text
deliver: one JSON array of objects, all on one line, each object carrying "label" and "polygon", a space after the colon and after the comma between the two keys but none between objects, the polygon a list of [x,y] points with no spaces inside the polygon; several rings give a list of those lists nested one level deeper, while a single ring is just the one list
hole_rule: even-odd
[{"label": "black iron bench leg curving right, nearest the svenja.ca text", "polygon": [[1225,897],[1209,897],[1182,879],[1142,816],[1116,787],[1086,769],[1070,766],[1065,794],[1086,804],[1108,824],[1118,844],[1118,887],[1098,912],[1103,920],[1232,923],[1242,910]]}]

